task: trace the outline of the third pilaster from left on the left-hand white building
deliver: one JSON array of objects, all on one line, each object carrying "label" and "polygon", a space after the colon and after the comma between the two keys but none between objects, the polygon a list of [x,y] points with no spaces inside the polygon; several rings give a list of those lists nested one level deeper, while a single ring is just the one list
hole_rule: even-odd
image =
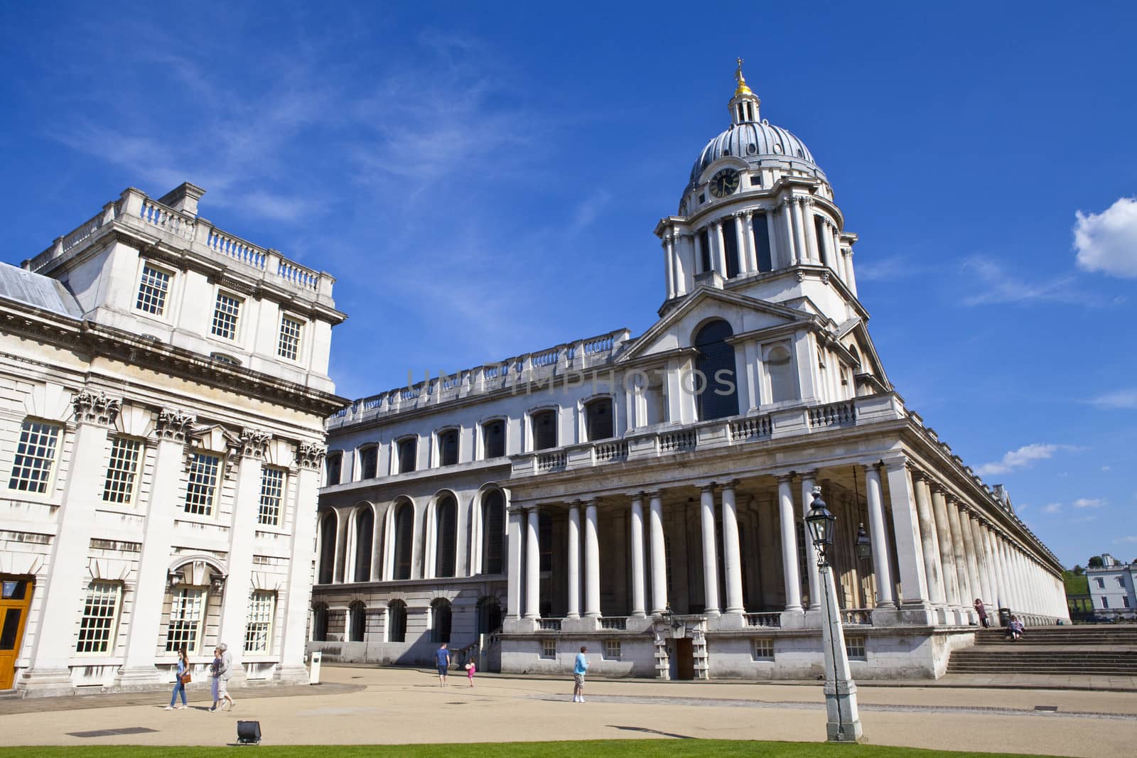
[{"label": "third pilaster from left on the left-hand white building", "polygon": [[[244,652],[244,627],[249,617],[249,593],[252,592],[252,544],[260,510],[260,473],[272,434],[260,430],[241,431],[241,448],[231,456],[239,461],[236,492],[233,497],[233,523],[229,528],[229,575],[222,602],[221,630],[217,639],[229,645],[233,658],[235,683],[244,678],[241,659]],[[283,519],[282,519],[283,520]],[[355,522],[356,519],[351,519]],[[368,535],[368,539],[370,535]]]}]

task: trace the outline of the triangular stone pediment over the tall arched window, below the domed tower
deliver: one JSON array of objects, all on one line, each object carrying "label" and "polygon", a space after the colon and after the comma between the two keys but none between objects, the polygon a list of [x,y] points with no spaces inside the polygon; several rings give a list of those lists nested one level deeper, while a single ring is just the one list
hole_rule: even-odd
[{"label": "triangular stone pediment over the tall arched window, below the domed tower", "polygon": [[620,360],[633,360],[689,348],[695,332],[714,318],[729,323],[735,334],[815,320],[812,314],[796,308],[717,289],[699,288],[652,325],[652,328],[622,353]]}]

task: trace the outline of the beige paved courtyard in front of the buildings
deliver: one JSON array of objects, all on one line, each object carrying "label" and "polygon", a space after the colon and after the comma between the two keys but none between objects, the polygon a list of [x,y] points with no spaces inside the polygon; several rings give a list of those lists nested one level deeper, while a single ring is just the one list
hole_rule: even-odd
[{"label": "beige paved courtyard in front of the buildings", "polygon": [[[260,722],[265,744],[485,742],[626,738],[821,740],[820,684],[596,681],[573,703],[568,680],[454,676],[423,669],[331,667],[325,684],[239,691],[233,713],[167,711],[160,693],[0,701],[7,744],[202,744]],[[1129,755],[1137,741],[1132,691],[997,686],[863,686],[868,742],[1044,755]],[[1045,710],[1037,710],[1043,708]],[[1051,710],[1054,709],[1054,710]],[[84,733],[114,731],[111,734]]]}]

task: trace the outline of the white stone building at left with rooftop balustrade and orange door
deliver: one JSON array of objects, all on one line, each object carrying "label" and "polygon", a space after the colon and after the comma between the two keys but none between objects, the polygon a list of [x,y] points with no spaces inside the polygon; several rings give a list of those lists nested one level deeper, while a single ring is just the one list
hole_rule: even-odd
[{"label": "white stone building at left with rooftop balustrade and orange door", "polygon": [[128,189],[0,264],[0,689],[305,680],[331,276]]}]

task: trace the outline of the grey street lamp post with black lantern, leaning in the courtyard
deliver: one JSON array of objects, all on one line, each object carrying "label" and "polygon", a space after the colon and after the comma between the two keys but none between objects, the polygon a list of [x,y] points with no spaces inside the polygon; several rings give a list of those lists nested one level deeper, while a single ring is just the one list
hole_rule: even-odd
[{"label": "grey street lamp post with black lantern, leaning in the courtyard", "polygon": [[825,710],[829,720],[825,732],[830,742],[860,742],[861,716],[856,707],[856,684],[849,673],[849,658],[845,652],[845,632],[837,608],[837,585],[829,565],[829,549],[833,544],[833,524],[837,517],[821,499],[821,488],[813,488],[813,502],[805,517],[813,547],[818,550],[818,567],[824,594],[825,625],[822,647],[825,659]]}]

